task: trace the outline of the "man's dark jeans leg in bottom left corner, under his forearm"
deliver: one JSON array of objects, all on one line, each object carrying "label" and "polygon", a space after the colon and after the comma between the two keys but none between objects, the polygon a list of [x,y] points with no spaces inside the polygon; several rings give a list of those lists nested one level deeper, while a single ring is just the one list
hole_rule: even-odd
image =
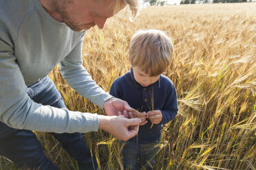
[{"label": "man's dark jeans leg in bottom left corner, under his forearm", "polygon": [[30,130],[17,130],[1,124],[0,155],[21,169],[57,169],[45,156],[36,135]]}]

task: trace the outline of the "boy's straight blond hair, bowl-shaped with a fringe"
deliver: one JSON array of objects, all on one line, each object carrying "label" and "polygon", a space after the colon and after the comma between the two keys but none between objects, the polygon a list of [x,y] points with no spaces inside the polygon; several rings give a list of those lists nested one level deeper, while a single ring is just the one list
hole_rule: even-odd
[{"label": "boy's straight blond hair, bowl-shaped with a fringe", "polygon": [[160,75],[166,71],[172,55],[171,39],[158,29],[139,30],[131,38],[131,66],[140,66],[140,69],[150,76]]}]

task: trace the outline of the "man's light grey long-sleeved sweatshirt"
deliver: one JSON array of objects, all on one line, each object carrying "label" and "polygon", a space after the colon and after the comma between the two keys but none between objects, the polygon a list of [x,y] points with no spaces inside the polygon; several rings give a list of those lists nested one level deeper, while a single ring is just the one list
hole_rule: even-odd
[{"label": "man's light grey long-sleeved sweatshirt", "polygon": [[39,132],[98,131],[98,115],[36,104],[30,84],[56,64],[77,93],[103,108],[111,98],[82,65],[85,32],[74,32],[47,14],[39,0],[0,0],[0,121]]}]

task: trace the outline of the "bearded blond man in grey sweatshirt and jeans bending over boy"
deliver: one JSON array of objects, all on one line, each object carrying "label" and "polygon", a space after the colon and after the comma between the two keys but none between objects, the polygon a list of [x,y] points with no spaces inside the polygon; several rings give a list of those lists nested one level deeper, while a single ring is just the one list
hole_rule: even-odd
[{"label": "bearded blond man in grey sweatshirt and jeans bending over boy", "polygon": [[[96,169],[81,133],[100,128],[123,141],[136,135],[140,119],[116,116],[134,109],[100,88],[81,60],[85,30],[103,29],[126,3],[136,15],[138,0],[0,0],[1,156],[19,168],[57,169],[31,130],[54,132],[80,169]],[[67,110],[47,77],[58,63],[67,83],[112,117]]]}]

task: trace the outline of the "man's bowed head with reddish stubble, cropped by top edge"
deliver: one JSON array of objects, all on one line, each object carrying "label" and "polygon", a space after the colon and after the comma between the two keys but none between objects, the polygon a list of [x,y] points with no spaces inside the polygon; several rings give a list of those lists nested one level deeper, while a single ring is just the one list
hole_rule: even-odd
[{"label": "man's bowed head with reddish stubble, cropped by top edge", "polygon": [[105,22],[129,6],[132,16],[138,14],[140,0],[40,0],[47,12],[74,31],[87,30],[95,25],[103,29]]}]

